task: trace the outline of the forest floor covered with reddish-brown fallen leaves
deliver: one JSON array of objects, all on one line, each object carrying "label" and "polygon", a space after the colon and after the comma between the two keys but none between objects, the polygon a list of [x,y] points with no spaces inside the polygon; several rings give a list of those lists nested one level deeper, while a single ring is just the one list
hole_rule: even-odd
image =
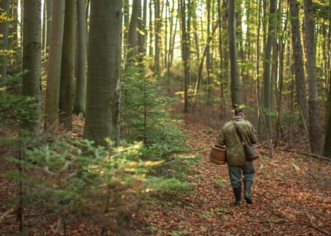
[{"label": "forest floor covered with reddish-brown fallen leaves", "polygon": [[[73,134],[81,137],[80,122]],[[256,174],[252,186],[253,204],[234,206],[227,165],[209,162],[208,154],[218,128],[209,127],[190,115],[184,116],[182,129],[190,134],[191,153],[203,156],[192,167],[188,191],[158,196],[157,202],[139,208],[118,233],[108,235],[331,235],[330,161],[284,150],[258,146],[261,156],[254,161]],[[0,173],[11,169],[0,150]],[[16,191],[15,182],[0,176],[0,235],[18,230],[15,211],[3,204]],[[27,212],[26,218],[34,212]],[[43,233],[55,234],[53,219],[28,221],[45,226]],[[72,225],[67,235],[100,235],[100,228],[86,222]]]}]

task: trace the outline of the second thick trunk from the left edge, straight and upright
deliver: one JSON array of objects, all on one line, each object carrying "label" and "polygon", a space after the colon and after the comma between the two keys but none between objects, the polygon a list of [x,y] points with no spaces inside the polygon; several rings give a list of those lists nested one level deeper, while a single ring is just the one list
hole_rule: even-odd
[{"label": "second thick trunk from the left edge, straight and upright", "polygon": [[22,124],[35,134],[40,131],[41,118],[41,0],[24,1],[23,13],[23,56],[22,95],[35,99],[37,120]]}]

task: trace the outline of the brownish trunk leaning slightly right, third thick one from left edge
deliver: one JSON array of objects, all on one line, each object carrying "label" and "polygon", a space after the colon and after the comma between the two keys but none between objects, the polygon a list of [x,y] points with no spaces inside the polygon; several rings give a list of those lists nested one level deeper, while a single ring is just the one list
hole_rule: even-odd
[{"label": "brownish trunk leaning slightly right, third thick one from left edge", "polygon": [[61,55],[64,27],[65,0],[53,5],[52,31],[47,65],[47,88],[45,101],[45,128],[54,129],[59,118],[59,93],[61,76]]}]

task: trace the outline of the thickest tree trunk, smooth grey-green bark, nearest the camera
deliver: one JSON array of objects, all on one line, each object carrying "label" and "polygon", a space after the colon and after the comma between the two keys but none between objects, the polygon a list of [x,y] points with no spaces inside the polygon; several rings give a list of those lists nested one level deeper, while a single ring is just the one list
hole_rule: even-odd
[{"label": "thickest tree trunk, smooth grey-green bark, nearest the camera", "polygon": [[91,1],[84,138],[119,144],[122,0]]}]

